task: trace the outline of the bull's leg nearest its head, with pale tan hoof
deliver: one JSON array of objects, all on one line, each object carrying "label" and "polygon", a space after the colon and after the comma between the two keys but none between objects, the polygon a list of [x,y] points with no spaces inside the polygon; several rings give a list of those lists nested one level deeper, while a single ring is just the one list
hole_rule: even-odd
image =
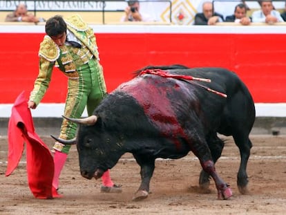
[{"label": "bull's leg nearest its head, with pale tan hoof", "polygon": [[153,176],[155,169],[155,159],[153,158],[142,158],[140,156],[134,156],[138,165],[140,165],[140,175],[141,175],[141,184],[139,189],[135,192],[132,200],[142,200],[147,198],[149,195],[150,180]]}]

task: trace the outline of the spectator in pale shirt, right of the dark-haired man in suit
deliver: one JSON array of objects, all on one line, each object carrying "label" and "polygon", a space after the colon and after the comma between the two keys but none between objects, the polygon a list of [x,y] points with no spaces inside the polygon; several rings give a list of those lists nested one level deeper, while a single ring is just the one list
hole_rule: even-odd
[{"label": "spectator in pale shirt, right of the dark-haired man in suit", "polygon": [[271,0],[258,1],[261,10],[256,10],[252,13],[252,22],[263,22],[266,24],[274,24],[276,22],[284,21],[280,16],[280,12],[274,10]]}]

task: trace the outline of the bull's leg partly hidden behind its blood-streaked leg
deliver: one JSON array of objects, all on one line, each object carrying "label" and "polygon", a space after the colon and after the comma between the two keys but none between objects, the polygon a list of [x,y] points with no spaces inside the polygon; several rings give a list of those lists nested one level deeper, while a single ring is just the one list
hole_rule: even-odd
[{"label": "bull's leg partly hidden behind its blood-streaked leg", "polygon": [[[211,150],[211,157],[213,158],[213,162],[216,163],[222,154],[222,149],[225,146],[225,142],[220,140],[216,133],[213,133],[209,135],[209,138],[207,138],[207,144]],[[200,171],[199,179],[199,185],[202,191],[209,191],[210,180],[211,176],[202,169],[202,171]]]}]

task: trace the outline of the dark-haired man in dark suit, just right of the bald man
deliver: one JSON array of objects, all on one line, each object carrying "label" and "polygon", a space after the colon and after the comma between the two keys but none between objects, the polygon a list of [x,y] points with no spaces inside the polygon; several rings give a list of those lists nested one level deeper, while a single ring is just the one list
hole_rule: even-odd
[{"label": "dark-haired man in dark suit, just right of the bald man", "polygon": [[251,19],[247,17],[247,6],[244,3],[239,3],[234,8],[234,14],[225,17],[225,21],[240,23],[243,26],[248,26]]}]

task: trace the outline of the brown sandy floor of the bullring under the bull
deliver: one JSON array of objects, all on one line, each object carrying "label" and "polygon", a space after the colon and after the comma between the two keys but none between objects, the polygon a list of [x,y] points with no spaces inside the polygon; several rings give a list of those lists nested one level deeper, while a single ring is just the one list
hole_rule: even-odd
[{"label": "brown sandy floor of the bullring under the bull", "polygon": [[[48,147],[50,137],[41,137]],[[226,138],[226,137],[224,137]],[[133,202],[140,185],[140,168],[129,153],[111,169],[111,177],[123,185],[122,194],[102,194],[101,180],[87,180],[79,174],[75,147],[70,151],[61,173],[59,193],[62,198],[34,198],[27,183],[25,151],[14,173],[6,177],[7,138],[0,138],[0,214],[285,214],[286,211],[286,143],[285,136],[251,135],[247,172],[249,194],[242,195],[236,187],[240,163],[238,148],[231,138],[216,164],[218,174],[231,185],[233,196],[217,200],[211,180],[211,191],[198,191],[200,164],[189,153],[179,160],[156,160],[151,179],[151,194]]]}]

